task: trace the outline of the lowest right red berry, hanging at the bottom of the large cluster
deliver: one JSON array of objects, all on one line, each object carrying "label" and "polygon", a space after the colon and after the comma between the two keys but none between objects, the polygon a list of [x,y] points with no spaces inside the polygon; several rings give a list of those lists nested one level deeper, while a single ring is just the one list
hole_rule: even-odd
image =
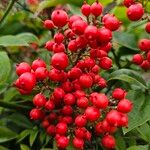
[{"label": "lowest right red berry, hanging at the bottom of the large cluster", "polygon": [[101,142],[102,145],[108,149],[114,149],[116,146],[115,138],[111,135],[105,135]]}]

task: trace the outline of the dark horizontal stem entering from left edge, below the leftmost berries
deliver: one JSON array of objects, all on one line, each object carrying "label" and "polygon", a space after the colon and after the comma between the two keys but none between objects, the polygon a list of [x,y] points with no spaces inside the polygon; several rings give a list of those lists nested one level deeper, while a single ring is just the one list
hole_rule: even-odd
[{"label": "dark horizontal stem entering from left edge, below the leftmost berries", "polygon": [[29,110],[30,107],[29,106],[22,106],[22,105],[18,105],[18,104],[14,104],[14,103],[11,103],[11,102],[4,102],[3,100],[0,100],[0,107],[3,107],[3,108],[8,108],[8,109],[26,109],[26,110]]}]

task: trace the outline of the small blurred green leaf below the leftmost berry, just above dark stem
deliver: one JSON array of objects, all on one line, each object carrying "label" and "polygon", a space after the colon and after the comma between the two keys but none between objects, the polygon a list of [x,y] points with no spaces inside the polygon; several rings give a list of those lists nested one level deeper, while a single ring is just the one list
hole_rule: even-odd
[{"label": "small blurred green leaf below the leftmost berry, just above dark stem", "polygon": [[16,88],[9,88],[4,95],[4,101],[11,101],[12,98],[14,98],[16,95],[18,95],[19,92]]}]

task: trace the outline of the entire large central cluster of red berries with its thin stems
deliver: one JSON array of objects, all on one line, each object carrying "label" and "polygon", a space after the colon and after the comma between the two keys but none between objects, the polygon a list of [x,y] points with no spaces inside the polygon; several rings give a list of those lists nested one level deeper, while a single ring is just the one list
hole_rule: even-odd
[{"label": "entire large central cluster of red berries with its thin stems", "polygon": [[57,32],[45,45],[53,54],[50,70],[41,59],[31,66],[22,62],[16,67],[19,78],[15,85],[21,94],[30,94],[33,88],[40,90],[33,98],[35,108],[30,117],[41,120],[58,149],[65,149],[69,141],[75,149],[84,149],[93,136],[100,136],[105,148],[114,149],[112,134],[128,125],[132,103],[125,98],[126,91],[116,88],[111,95],[94,91],[107,86],[99,73],[112,67],[108,57],[112,31],[120,26],[114,15],[103,16],[102,11],[98,1],[81,7],[87,19],[54,10],[51,20],[44,22],[45,28]]}]

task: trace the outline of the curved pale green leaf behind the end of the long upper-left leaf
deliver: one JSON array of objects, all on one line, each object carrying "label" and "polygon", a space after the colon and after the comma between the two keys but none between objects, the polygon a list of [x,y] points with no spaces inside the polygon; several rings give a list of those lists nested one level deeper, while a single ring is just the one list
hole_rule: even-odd
[{"label": "curved pale green leaf behind the end of the long upper-left leaf", "polygon": [[27,43],[39,43],[38,38],[32,33],[21,33],[17,35],[17,38],[23,39]]}]

